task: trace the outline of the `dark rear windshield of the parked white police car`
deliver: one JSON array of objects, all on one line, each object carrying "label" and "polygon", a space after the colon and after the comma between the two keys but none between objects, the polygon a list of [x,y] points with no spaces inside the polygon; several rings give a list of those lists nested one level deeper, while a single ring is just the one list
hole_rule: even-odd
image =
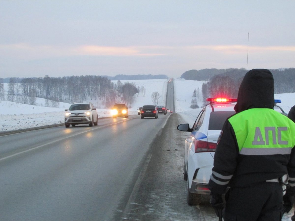
[{"label": "dark rear windshield of the parked white police car", "polygon": [[214,111],[210,114],[209,119],[209,130],[222,130],[223,124],[225,120],[235,114],[236,112],[233,111]]}]

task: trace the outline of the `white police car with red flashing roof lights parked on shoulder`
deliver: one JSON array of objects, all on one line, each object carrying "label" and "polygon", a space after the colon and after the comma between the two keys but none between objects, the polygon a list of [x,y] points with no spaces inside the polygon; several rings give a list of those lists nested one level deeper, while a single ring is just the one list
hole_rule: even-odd
[{"label": "white police car with red flashing roof lights parked on shoulder", "polygon": [[[178,125],[179,131],[191,134],[185,140],[184,180],[187,181],[186,201],[200,203],[202,194],[210,194],[208,183],[212,174],[214,151],[225,120],[235,114],[237,99],[207,98],[209,104],[200,111],[192,128],[188,123]],[[285,114],[275,100],[274,110]]]}]

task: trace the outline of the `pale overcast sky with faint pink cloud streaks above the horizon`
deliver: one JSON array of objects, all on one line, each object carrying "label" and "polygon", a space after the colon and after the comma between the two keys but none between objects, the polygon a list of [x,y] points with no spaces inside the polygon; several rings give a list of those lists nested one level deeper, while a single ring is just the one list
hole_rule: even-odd
[{"label": "pale overcast sky with faint pink cloud streaks above the horizon", "polygon": [[294,10],[293,0],[0,0],[0,77],[294,67]]}]

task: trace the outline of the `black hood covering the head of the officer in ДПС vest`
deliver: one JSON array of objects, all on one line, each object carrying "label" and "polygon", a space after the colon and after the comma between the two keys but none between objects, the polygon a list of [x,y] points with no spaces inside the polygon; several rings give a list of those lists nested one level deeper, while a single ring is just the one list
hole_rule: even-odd
[{"label": "black hood covering the head of the officer in \u0414\u041f\u0421 vest", "polygon": [[240,85],[235,111],[240,113],[250,108],[271,108],[274,106],[273,75],[266,69],[248,71]]}]

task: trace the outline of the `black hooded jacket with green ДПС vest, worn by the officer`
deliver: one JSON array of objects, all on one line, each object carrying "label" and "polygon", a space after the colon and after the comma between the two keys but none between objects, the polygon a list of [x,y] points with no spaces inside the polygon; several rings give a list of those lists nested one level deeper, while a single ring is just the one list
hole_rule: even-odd
[{"label": "black hooded jacket with green \u0414\u041f\u0421 vest, worn by the officer", "polygon": [[295,133],[291,133],[295,123],[273,107],[272,73],[266,69],[247,72],[239,88],[237,113],[225,121],[217,141],[209,181],[212,193],[222,194],[227,186],[253,186],[287,173],[294,178],[295,188]]}]

